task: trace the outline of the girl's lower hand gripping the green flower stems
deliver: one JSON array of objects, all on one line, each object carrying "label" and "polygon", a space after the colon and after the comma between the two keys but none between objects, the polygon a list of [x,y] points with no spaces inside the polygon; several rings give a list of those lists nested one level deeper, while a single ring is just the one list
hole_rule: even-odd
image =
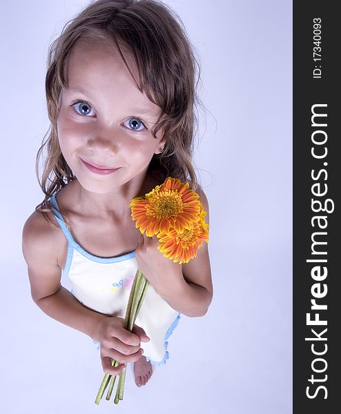
[{"label": "girl's lower hand gripping the green flower stems", "polygon": [[[124,328],[121,317],[105,317],[100,324],[97,340],[101,344],[101,364],[103,371],[110,375],[118,375],[126,368],[128,362],[135,362],[143,353],[140,342],[148,342],[150,338],[137,325],[133,333]],[[111,359],[120,362],[119,366],[111,365]]]}]

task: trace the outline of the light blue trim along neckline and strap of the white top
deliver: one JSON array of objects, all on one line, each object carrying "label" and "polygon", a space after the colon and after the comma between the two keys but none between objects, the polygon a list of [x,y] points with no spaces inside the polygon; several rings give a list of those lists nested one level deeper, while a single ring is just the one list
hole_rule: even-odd
[{"label": "light blue trim along neckline and strap of the white top", "polygon": [[53,208],[52,211],[56,216],[58,224],[61,227],[61,230],[63,231],[66,239],[68,240],[68,255],[66,257],[66,266],[64,269],[64,272],[66,274],[68,274],[68,270],[70,269],[73,248],[75,248],[79,253],[81,253],[81,255],[84,255],[88,259],[92,260],[92,262],[97,262],[97,263],[123,262],[124,260],[133,259],[133,257],[135,257],[135,250],[133,250],[133,252],[127,253],[126,255],[115,256],[115,257],[99,257],[99,256],[92,255],[91,253],[88,253],[86,250],[84,250],[84,248],[79,246],[79,244],[72,237],[72,234],[70,233],[70,230],[66,226],[66,223],[63,220],[63,217],[61,217],[61,214],[59,213],[59,207],[57,204],[57,199],[56,199],[55,194],[51,196],[50,202],[53,206],[55,206],[55,208]]}]

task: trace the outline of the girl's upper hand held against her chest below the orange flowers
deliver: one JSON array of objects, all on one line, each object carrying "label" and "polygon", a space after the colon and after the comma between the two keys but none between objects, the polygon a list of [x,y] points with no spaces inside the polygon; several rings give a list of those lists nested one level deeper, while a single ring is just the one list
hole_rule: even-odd
[{"label": "girl's upper hand held against her chest below the orange flowers", "polygon": [[182,265],[164,257],[157,249],[159,244],[156,235],[153,237],[141,235],[135,250],[135,257],[139,270],[153,285],[157,293],[161,294],[171,286],[183,283],[184,277],[182,275]]}]

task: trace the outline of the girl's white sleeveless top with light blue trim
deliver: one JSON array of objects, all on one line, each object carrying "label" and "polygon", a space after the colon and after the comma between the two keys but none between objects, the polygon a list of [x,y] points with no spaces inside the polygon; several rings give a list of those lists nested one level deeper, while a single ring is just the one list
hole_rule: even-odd
[{"label": "girl's white sleeveless top with light blue trim", "polygon": [[[58,194],[58,193],[57,193]],[[98,257],[79,246],[67,228],[56,200],[50,198],[52,212],[68,240],[68,255],[63,275],[67,275],[72,294],[87,308],[105,315],[124,318],[130,288],[137,270],[135,250],[116,257]],[[165,364],[168,359],[167,339],[173,333],[180,313],[171,308],[166,300],[148,286],[142,308],[135,324],[144,328],[149,342],[143,342],[144,356],[152,364]],[[95,342],[97,348],[99,343]]]}]

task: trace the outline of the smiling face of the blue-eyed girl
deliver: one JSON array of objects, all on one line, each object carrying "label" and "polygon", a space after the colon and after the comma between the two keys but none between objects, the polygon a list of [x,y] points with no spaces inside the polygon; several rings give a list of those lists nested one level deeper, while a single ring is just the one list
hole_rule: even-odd
[{"label": "smiling face of the blue-eyed girl", "polygon": [[[138,79],[133,60],[126,57]],[[61,90],[57,130],[61,152],[82,187],[110,193],[130,181],[140,183],[165,139],[151,128],[161,109],[139,91],[115,48],[82,39],[67,66],[68,88]],[[84,164],[117,168],[98,174]]]}]

